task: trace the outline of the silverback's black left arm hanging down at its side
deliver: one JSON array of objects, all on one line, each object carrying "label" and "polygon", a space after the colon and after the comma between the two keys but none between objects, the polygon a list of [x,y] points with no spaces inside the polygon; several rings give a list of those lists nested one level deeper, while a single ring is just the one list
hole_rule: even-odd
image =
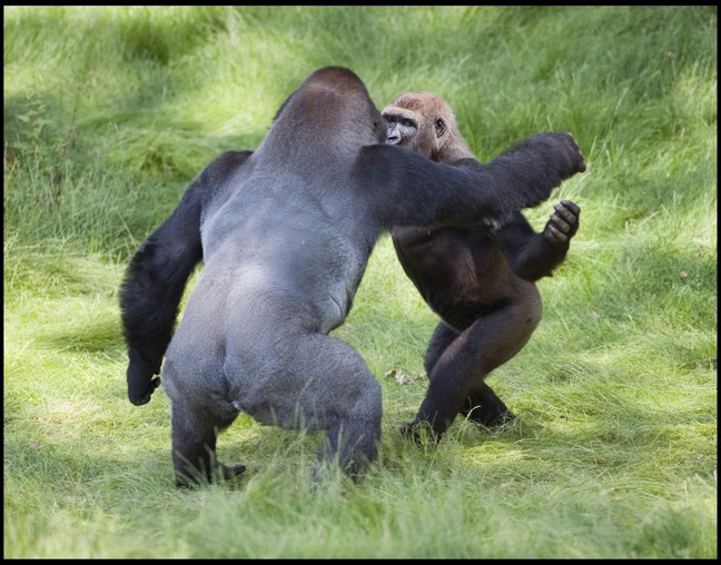
[{"label": "silverback's black left arm hanging down at its side", "polygon": [[132,256],[120,287],[122,331],[128,347],[128,398],[137,406],[160,385],[162,356],[172,337],[186,282],[203,258],[200,216],[217,196],[218,179],[250,152],[228,152],[196,178],[168,219]]}]

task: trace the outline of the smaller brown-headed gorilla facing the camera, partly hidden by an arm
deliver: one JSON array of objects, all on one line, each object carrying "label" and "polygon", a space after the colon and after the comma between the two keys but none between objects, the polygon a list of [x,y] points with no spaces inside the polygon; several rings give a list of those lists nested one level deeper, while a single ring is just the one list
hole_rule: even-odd
[{"label": "smaller brown-headed gorilla facing the camera, partly hidden by an arm", "polygon": [[[406,92],[383,109],[388,142],[445,165],[473,153],[451,106],[428,92]],[[562,200],[541,234],[520,211],[494,229],[396,226],[393,244],[403,269],[442,318],[424,366],[428,389],[415,419],[403,432],[416,442],[428,426],[439,440],[457,414],[486,427],[513,414],[484,381],[516,355],[541,320],[534,284],[565,258],[579,229],[580,208]]]}]

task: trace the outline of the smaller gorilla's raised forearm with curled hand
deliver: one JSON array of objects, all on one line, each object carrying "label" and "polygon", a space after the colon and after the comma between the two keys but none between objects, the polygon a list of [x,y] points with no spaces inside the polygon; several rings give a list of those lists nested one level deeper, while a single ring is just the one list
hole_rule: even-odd
[{"label": "smaller gorilla's raised forearm with curled hand", "polygon": [[513,272],[531,282],[553,274],[553,269],[565,259],[571,238],[579,230],[579,206],[571,200],[561,200],[554,208],[541,234],[533,231],[521,212],[488,234],[505,255]]}]

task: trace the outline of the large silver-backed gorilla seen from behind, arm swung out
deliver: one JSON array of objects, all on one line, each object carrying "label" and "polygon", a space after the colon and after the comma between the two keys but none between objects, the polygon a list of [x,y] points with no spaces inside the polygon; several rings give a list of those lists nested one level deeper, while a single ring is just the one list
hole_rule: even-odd
[{"label": "large silver-backed gorilla seen from behind, arm swung out", "polygon": [[360,79],[319,69],[282,105],[255,152],[213,161],[135,252],[120,288],[128,396],[150,399],[165,356],[177,486],[245,469],[216,460],[217,434],[241,412],[324,430],[316,478],[330,462],[362,474],[381,437],[381,387],[328,333],[345,320],[379,234],[504,220],[585,168],[570,133],[454,167],[385,141]]}]

